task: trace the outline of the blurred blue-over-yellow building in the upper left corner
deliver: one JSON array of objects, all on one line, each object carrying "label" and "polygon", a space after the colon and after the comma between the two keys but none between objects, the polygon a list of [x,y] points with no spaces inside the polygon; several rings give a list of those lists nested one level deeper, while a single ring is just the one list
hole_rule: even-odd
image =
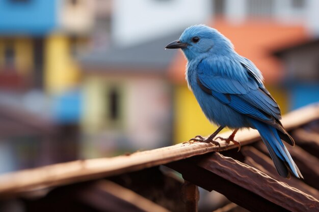
[{"label": "blurred blue-over-yellow building in the upper left corner", "polygon": [[80,78],[75,57],[87,43],[94,15],[90,0],[4,3],[0,13],[1,85],[44,89],[49,94],[74,88]]}]

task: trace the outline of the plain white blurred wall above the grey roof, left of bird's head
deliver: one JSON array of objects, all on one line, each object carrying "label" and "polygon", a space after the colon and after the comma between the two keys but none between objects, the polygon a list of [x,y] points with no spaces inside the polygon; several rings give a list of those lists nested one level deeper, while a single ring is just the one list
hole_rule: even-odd
[{"label": "plain white blurred wall above the grey roof, left of bird's head", "polygon": [[211,0],[116,0],[112,43],[137,45],[176,33],[211,17]]}]

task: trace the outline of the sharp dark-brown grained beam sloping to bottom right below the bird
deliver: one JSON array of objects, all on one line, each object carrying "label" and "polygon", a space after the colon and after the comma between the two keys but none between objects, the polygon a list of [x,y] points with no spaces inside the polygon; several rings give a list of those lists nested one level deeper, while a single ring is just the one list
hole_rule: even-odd
[{"label": "sharp dark-brown grained beam sloping to bottom right below the bird", "polygon": [[183,178],[208,191],[224,194],[251,211],[315,211],[314,197],[271,178],[267,174],[219,153],[167,164]]}]

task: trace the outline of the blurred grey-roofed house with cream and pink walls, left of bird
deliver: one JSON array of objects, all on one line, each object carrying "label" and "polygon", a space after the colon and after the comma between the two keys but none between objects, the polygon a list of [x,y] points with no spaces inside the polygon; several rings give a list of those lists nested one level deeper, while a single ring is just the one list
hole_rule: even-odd
[{"label": "blurred grey-roofed house with cream and pink walls, left of bird", "polygon": [[92,52],[82,59],[85,149],[98,146],[95,152],[105,156],[115,149],[171,143],[173,90],[168,68],[175,52],[166,51],[163,44],[177,36]]}]

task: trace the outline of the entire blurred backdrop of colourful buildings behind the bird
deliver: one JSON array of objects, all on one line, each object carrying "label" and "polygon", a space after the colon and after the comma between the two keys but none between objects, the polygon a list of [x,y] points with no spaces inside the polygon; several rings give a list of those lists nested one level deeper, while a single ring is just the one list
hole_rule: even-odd
[{"label": "entire blurred backdrop of colourful buildings behind the bird", "polygon": [[0,173],[187,141],[216,127],[165,50],[193,24],[251,59],[282,112],[319,101],[317,0],[0,1]]}]

